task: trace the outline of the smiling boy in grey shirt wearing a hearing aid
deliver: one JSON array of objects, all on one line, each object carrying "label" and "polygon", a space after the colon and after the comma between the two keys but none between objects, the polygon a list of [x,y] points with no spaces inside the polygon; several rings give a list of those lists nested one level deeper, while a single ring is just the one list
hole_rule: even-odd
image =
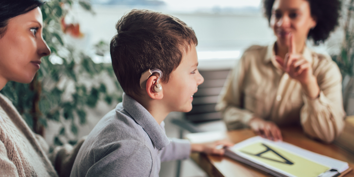
[{"label": "smiling boy in grey shirt wearing a hearing aid", "polygon": [[179,19],[148,10],[122,17],[110,43],[112,65],[123,101],[88,135],[71,177],[159,176],[161,161],[186,159],[190,152],[220,154],[219,144],[190,144],[166,137],[164,119],[189,112],[199,74],[194,31]]}]

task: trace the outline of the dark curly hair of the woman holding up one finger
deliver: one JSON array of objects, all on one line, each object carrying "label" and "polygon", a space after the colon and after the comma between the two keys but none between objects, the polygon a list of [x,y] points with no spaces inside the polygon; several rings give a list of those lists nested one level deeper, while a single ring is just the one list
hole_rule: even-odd
[{"label": "dark curly hair of the woman holding up one finger", "polygon": [[[270,22],[272,16],[272,7],[275,0],[263,0],[264,15]],[[317,25],[314,29],[310,29],[307,36],[312,38],[315,45],[324,42],[330,32],[338,25],[339,11],[341,10],[341,2],[339,0],[307,0],[310,4],[311,15],[316,18]]]}]

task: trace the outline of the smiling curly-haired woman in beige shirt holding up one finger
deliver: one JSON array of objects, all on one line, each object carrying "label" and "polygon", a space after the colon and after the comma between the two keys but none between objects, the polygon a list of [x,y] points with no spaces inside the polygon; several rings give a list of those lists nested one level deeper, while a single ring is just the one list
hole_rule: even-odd
[{"label": "smiling curly-haired woman in beige shirt holding up one finger", "polygon": [[264,0],[276,41],[251,46],[221,93],[216,109],[228,129],[249,126],[281,140],[278,126],[301,124],[315,139],[332,142],[343,130],[342,77],[330,56],[314,52],[338,25],[339,0]]}]

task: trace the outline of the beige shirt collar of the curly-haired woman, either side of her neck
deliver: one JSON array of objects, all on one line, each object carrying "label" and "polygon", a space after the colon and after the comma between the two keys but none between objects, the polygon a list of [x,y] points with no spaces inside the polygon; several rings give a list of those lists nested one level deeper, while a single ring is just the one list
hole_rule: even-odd
[{"label": "beige shirt collar of the curly-haired woman, either side of her neck", "polygon": [[[272,42],[270,45],[267,47],[267,52],[265,53],[264,57],[264,63],[269,63],[272,62],[274,66],[277,67],[278,62],[275,60],[275,50],[274,50],[275,42]],[[305,45],[304,50],[302,51],[302,56],[312,64],[313,62],[313,57],[312,57],[312,51]]]}]

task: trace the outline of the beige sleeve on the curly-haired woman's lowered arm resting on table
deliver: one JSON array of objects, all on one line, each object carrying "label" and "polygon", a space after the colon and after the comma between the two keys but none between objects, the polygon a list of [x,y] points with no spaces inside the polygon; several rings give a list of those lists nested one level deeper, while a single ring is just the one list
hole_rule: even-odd
[{"label": "beige sleeve on the curly-haired woman's lowered arm resting on table", "polygon": [[253,117],[253,113],[250,110],[243,109],[243,87],[247,69],[245,60],[246,54],[241,57],[239,63],[229,75],[216,105],[216,110],[222,112],[223,119],[229,130],[247,125]]}]

